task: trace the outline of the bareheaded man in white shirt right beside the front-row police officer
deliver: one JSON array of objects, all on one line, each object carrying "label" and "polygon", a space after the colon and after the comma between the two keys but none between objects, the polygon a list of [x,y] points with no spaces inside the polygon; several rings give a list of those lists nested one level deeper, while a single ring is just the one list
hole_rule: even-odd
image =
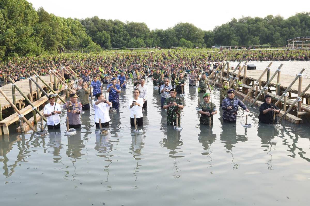
[{"label": "bareheaded man in white shirt right beside the front-row police officer", "polygon": [[109,127],[110,126],[110,116],[109,116],[109,107],[112,106],[112,103],[108,100],[104,99],[104,95],[102,93],[97,93],[96,98],[98,99],[93,103],[95,109],[95,124],[96,128],[100,128],[99,119],[101,122],[101,127]]}]

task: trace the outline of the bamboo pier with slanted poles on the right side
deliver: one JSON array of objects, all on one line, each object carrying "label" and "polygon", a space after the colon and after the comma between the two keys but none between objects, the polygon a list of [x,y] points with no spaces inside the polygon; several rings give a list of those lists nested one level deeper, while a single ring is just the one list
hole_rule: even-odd
[{"label": "bamboo pier with slanted poles on the right side", "polygon": [[[229,64],[227,65],[229,67]],[[246,63],[241,65],[246,65]],[[270,65],[272,66],[272,62]],[[229,79],[229,85],[236,89],[237,96],[242,97],[243,101],[247,101],[253,106],[259,107],[263,103],[264,95],[272,95],[273,103],[277,102],[277,106],[281,109],[279,117],[284,115],[283,119],[291,123],[303,123],[303,119],[300,117],[310,116],[310,89],[307,89],[310,79],[303,78],[300,73],[281,74],[281,67],[272,71],[269,66],[265,70],[247,70],[245,66],[241,72],[238,69],[232,72],[231,68],[222,68],[219,72],[220,75],[209,77],[209,82],[215,82],[217,86],[221,87],[222,82]],[[287,92],[284,93],[285,91]],[[299,101],[295,101],[296,99]],[[290,106],[294,108],[294,111],[287,113],[286,109]]]}]

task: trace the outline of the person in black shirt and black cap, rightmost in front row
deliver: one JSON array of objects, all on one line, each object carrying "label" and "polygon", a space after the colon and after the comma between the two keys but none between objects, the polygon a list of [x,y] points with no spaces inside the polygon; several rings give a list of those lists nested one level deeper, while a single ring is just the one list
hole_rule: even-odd
[{"label": "person in black shirt and black cap, rightmost in front row", "polygon": [[[264,97],[264,103],[260,105],[259,107],[259,122],[260,123],[266,123],[266,124],[272,124],[273,123],[273,113],[276,112],[276,114],[280,113],[280,109],[271,103],[271,95],[265,95]],[[277,122],[277,115],[275,118],[275,122]]]}]

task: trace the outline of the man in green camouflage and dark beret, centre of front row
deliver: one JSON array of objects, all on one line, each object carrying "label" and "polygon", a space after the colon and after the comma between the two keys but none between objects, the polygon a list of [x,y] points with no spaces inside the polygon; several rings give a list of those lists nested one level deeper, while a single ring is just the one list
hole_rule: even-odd
[{"label": "man in green camouflage and dark beret, centre of front row", "polygon": [[178,125],[180,125],[180,113],[184,108],[182,100],[176,97],[175,89],[169,91],[170,97],[164,102],[164,109],[167,109],[167,124],[176,124],[176,114],[179,114]]}]

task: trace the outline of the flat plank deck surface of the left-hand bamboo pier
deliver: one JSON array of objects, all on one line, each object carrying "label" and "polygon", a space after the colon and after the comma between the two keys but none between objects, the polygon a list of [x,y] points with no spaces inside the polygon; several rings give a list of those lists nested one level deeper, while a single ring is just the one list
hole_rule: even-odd
[{"label": "flat plank deck surface of the left-hand bamboo pier", "polygon": [[[49,84],[50,81],[50,76],[40,76],[43,81],[45,81],[47,84]],[[54,79],[54,78],[53,78]],[[52,81],[52,83],[54,83],[54,81]],[[38,84],[44,89],[46,86],[40,81],[38,80]],[[29,88],[29,80],[28,78],[20,80],[18,82],[15,82],[15,85],[18,86],[20,88],[20,90],[25,94],[28,95],[30,93],[30,88]],[[12,97],[12,84],[7,84],[5,86],[1,86],[0,89],[7,95],[7,97],[13,101],[13,97]],[[32,94],[36,94],[37,93],[37,86],[32,82]],[[15,89],[15,96],[16,96],[16,104],[18,105],[18,103],[21,103],[24,100],[24,97],[19,93],[19,91],[17,91]],[[2,95],[0,96],[0,103],[1,103],[1,108],[2,110],[7,109],[9,107],[11,107],[10,103],[8,103],[8,101],[2,97]]]}]

